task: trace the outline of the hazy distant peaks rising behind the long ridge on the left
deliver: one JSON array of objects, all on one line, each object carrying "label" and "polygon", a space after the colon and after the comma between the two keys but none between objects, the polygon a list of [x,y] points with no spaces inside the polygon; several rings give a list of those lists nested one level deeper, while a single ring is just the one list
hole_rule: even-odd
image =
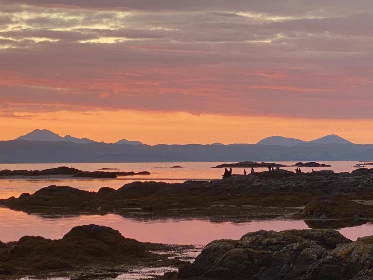
[{"label": "hazy distant peaks rising behind the long ridge on the left", "polygon": [[[15,140],[27,140],[27,141],[64,141],[64,142],[73,142],[77,144],[87,144],[87,143],[104,143],[104,142],[97,142],[88,138],[76,138],[70,135],[65,135],[63,137],[59,136],[58,134],[46,130],[46,129],[35,129],[26,135],[19,136]],[[129,145],[142,145],[140,141],[128,141],[126,139],[122,139],[117,141],[115,144],[129,144]]]}]

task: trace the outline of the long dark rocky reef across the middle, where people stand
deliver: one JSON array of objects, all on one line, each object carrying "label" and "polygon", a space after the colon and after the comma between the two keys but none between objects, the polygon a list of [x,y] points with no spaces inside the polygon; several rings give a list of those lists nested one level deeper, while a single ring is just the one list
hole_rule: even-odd
[{"label": "long dark rocky reef across the middle, where people stand", "polygon": [[[139,215],[222,215],[248,219],[258,218],[260,213],[271,209],[269,217],[260,218],[286,215],[286,218],[305,219],[368,219],[373,218],[372,190],[373,169],[338,174],[333,171],[295,174],[280,169],[235,175],[225,180],[134,182],[117,190],[102,187],[98,192],[49,186],[31,195],[23,193],[18,198],[0,199],[0,206],[28,213],[126,215],[137,209]],[[323,204],[323,200],[328,203]],[[300,207],[306,210],[302,212]]]}]

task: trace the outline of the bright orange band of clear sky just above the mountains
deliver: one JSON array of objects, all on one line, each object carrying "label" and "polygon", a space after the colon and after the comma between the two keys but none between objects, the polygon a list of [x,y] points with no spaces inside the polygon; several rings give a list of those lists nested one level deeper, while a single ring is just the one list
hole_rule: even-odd
[{"label": "bright orange band of clear sky just above the mountains", "polygon": [[[15,113],[28,115],[28,113]],[[338,134],[354,143],[373,143],[372,120],[301,119],[269,116],[192,115],[186,112],[87,111],[46,112],[25,118],[0,117],[1,139],[10,140],[36,128],[61,136],[88,137],[107,143],[120,139],[145,144],[256,143],[267,136],[312,140]]]}]

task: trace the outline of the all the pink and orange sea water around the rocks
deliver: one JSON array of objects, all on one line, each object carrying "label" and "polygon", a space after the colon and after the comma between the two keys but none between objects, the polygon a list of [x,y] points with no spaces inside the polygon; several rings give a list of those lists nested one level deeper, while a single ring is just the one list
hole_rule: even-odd
[{"label": "all the pink and orange sea water around the rocks", "polygon": [[[303,161],[306,162],[306,161]],[[60,163],[60,164],[0,164],[0,170],[41,170],[60,166],[73,167],[82,171],[97,171],[101,168],[116,168],[115,171],[149,171],[151,175],[135,175],[115,179],[90,178],[2,178],[0,179],[0,198],[18,197],[21,193],[34,193],[42,187],[50,185],[70,186],[81,190],[97,191],[101,187],[118,189],[124,184],[134,181],[165,181],[182,183],[186,180],[214,180],[221,178],[224,169],[211,168],[224,162],[146,162],[146,163]],[[225,162],[229,163],[229,162]],[[289,165],[283,167],[294,171],[296,162],[278,162]],[[301,168],[303,172],[322,169],[334,172],[351,172],[355,161],[320,162],[331,167]],[[172,168],[174,166],[182,168]],[[369,168],[370,165],[367,165]],[[373,168],[373,165],[372,165]],[[267,168],[255,168],[256,172]],[[109,170],[110,171],[110,170]],[[114,170],[113,170],[114,171]],[[243,174],[244,168],[233,168],[233,174]],[[247,170],[250,171],[250,168]],[[215,217],[216,218],[216,217]],[[25,235],[43,236],[50,239],[60,239],[72,227],[84,224],[98,224],[119,230],[124,237],[134,238],[141,242],[204,245],[215,239],[239,239],[242,235],[257,230],[287,230],[306,229],[308,225],[303,220],[250,220],[224,221],[219,219],[185,219],[185,218],[127,218],[117,214],[107,215],[71,215],[50,217],[41,214],[26,214],[0,207],[0,240],[2,242],[16,241]],[[339,228],[344,236],[356,240],[361,236],[373,235],[373,224]],[[140,274],[144,276],[146,268]],[[159,271],[161,273],[162,271]],[[140,275],[139,274],[139,275]],[[145,273],[146,274],[146,273]],[[118,279],[138,279],[136,273],[122,275]]]}]

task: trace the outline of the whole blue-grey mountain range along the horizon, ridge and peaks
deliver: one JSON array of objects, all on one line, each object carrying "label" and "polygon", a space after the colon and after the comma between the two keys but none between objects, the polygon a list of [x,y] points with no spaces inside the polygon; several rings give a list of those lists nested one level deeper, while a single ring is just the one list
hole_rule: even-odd
[{"label": "whole blue-grey mountain range along the horizon, ridge and peaks", "polygon": [[[15,140],[0,141],[0,163],[73,162],[239,162],[239,161],[369,161],[373,144],[354,144],[330,135],[312,141],[268,137],[257,144],[146,145],[120,140],[117,144],[87,138],[61,137],[35,130]],[[213,166],[213,165],[211,165]]]}]

